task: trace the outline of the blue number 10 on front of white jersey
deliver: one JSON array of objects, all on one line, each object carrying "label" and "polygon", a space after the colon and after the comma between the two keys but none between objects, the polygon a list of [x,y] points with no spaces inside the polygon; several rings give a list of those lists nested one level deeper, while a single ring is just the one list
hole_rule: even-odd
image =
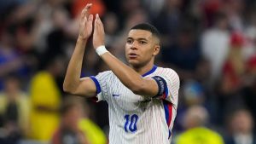
[{"label": "blue number 10 on front of white jersey", "polygon": [[126,114],[125,115],[125,126],[124,126],[125,132],[137,131],[137,119],[138,119],[137,114],[132,114],[132,115]]}]

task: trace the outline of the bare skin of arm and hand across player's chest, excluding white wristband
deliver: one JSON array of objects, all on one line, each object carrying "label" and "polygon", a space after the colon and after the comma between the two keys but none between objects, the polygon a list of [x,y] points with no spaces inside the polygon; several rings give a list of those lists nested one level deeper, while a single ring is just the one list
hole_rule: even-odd
[{"label": "bare skin of arm and hand across player's chest, excluding white wristband", "polygon": [[[94,26],[93,45],[97,51],[99,46],[104,45],[104,28],[98,14],[96,14]],[[128,89],[131,89],[135,94],[149,97],[158,94],[159,86],[153,78],[143,78],[139,73],[134,71],[131,67],[126,66],[109,52],[102,54],[101,58],[119,78],[122,84]]]}]

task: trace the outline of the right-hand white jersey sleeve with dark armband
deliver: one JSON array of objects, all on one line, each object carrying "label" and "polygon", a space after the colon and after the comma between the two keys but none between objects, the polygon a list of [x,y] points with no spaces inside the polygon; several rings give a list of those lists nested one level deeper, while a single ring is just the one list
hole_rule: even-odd
[{"label": "right-hand white jersey sleeve with dark armband", "polygon": [[154,79],[156,81],[158,81],[157,79],[160,79],[157,83],[162,85],[159,85],[160,90],[163,89],[163,92],[160,92],[160,95],[157,95],[157,97],[162,100],[172,102],[172,104],[177,106],[178,89],[180,84],[177,72],[167,69],[166,71],[157,74]]}]

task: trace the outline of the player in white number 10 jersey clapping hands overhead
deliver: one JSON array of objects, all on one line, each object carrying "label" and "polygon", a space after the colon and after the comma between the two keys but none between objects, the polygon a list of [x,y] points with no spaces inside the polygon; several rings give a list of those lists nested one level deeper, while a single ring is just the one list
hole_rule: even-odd
[{"label": "player in white number 10 jersey clapping hands overhead", "polygon": [[170,144],[179,78],[170,68],[154,66],[160,52],[159,32],[149,24],[131,28],[125,43],[126,66],[105,49],[103,24],[96,14],[93,47],[111,71],[80,78],[85,45],[93,29],[93,15],[87,14],[91,6],[87,4],[82,11],[63,89],[108,102],[110,144]]}]

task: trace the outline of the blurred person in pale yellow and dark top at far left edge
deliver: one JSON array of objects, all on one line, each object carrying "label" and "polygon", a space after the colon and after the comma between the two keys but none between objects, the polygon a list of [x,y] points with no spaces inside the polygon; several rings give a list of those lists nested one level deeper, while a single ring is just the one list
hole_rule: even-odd
[{"label": "blurred person in pale yellow and dark top at far left edge", "polygon": [[[0,115],[3,116],[3,141],[16,143],[28,134],[30,103],[20,89],[20,81],[14,75],[6,78],[4,90],[0,93]],[[0,138],[0,139],[1,139]]]}]

